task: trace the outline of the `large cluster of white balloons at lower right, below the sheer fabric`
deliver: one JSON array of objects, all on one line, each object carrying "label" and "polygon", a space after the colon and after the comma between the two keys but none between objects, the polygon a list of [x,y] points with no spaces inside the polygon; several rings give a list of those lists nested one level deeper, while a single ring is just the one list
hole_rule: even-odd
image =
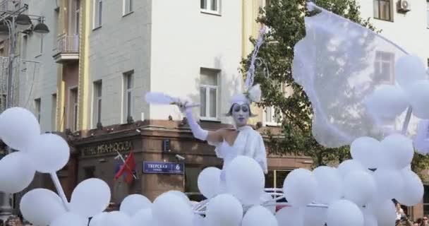
[{"label": "large cluster of white balloons at lower right, below the sheer fabric", "polygon": [[[393,198],[407,206],[421,202],[423,183],[409,168],[409,138],[393,134],[380,142],[361,137],[351,144],[351,155],[338,168],[292,171],[284,181],[284,195],[293,207],[277,213],[279,222],[294,218],[294,225],[394,225]],[[306,207],[310,203],[326,208],[315,214]]]}]

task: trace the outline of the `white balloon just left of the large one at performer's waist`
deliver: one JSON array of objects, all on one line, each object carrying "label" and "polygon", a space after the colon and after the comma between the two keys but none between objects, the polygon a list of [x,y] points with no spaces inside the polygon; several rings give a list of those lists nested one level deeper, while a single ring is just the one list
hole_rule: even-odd
[{"label": "white balloon just left of the large one at performer's waist", "polygon": [[205,198],[219,194],[220,172],[216,167],[207,167],[198,175],[198,189]]}]

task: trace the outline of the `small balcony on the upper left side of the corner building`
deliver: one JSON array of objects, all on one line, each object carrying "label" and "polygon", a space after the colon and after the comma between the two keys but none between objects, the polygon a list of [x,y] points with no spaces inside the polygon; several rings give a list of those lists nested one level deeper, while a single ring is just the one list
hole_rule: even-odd
[{"label": "small balcony on the upper left side of the corner building", "polygon": [[60,35],[54,49],[56,63],[66,63],[79,60],[79,35]]}]

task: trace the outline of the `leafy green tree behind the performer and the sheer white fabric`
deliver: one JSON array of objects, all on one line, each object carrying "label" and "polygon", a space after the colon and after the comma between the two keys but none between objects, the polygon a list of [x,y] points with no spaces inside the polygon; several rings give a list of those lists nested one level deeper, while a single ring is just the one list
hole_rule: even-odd
[{"label": "leafy green tree behind the performer and the sheer white fabric", "polygon": [[[355,0],[318,0],[318,6],[326,8],[339,16],[360,23],[370,30],[375,30],[369,18],[360,15],[360,6]],[[305,36],[304,17],[310,16],[306,0],[271,0],[260,9],[258,23],[267,25],[269,32],[259,49],[258,57],[264,60],[270,71],[270,78],[265,77],[264,67],[257,67],[255,83],[260,83],[262,101],[260,107],[273,106],[276,114],[281,114],[280,133],[266,133],[270,137],[268,148],[277,155],[305,155],[313,158],[313,166],[329,165],[349,159],[349,146],[325,148],[312,136],[312,108],[301,85],[292,77],[294,46]],[[377,30],[380,32],[380,30]],[[250,39],[252,42],[255,40]],[[243,72],[247,71],[250,55],[242,61]],[[284,87],[289,95],[284,95]],[[415,167],[422,169],[428,165],[428,158],[416,155]]]}]

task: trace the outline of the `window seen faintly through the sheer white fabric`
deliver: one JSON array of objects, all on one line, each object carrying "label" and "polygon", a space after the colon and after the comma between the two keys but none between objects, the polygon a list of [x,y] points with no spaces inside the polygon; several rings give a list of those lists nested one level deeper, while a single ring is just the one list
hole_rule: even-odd
[{"label": "window seen faintly through the sheer white fabric", "polygon": [[394,54],[375,52],[374,80],[377,83],[394,84]]}]

